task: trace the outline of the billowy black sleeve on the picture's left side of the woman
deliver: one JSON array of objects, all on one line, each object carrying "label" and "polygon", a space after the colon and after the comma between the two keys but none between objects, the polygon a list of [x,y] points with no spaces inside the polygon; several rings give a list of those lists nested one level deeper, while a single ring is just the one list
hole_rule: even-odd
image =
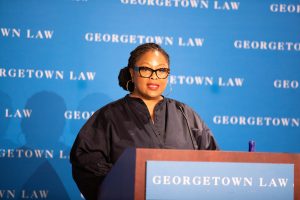
[{"label": "billowy black sleeve on the picture's left side of the woman", "polygon": [[70,153],[72,175],[87,200],[96,200],[110,171],[109,123],[96,112],[79,131]]}]

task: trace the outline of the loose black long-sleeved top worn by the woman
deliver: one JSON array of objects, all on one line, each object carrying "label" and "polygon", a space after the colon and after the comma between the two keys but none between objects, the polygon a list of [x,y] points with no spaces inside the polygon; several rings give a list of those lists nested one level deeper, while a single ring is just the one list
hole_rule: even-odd
[{"label": "loose black long-sleeved top worn by the woman", "polygon": [[73,178],[86,199],[97,199],[105,175],[127,147],[217,150],[203,120],[187,105],[164,98],[154,109],[125,96],[94,113],[71,149]]}]

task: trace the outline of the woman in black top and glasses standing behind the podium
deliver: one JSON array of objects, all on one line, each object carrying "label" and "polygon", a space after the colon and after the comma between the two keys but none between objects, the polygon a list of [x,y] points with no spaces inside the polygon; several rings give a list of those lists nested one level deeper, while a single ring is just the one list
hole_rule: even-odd
[{"label": "woman in black top and glasses standing behind the podium", "polygon": [[216,150],[212,133],[188,106],[162,96],[169,55],[147,43],[131,52],[119,85],[130,94],[97,112],[80,130],[71,150],[73,177],[86,199],[127,147]]}]

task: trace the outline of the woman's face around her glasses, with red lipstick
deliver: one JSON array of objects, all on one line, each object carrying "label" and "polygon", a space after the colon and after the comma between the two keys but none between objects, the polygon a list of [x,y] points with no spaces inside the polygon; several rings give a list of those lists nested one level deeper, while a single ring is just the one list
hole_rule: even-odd
[{"label": "woman's face around her glasses, with red lipstick", "polygon": [[[147,51],[135,63],[137,67],[148,67],[153,70],[169,68],[168,61],[162,53],[156,50]],[[159,79],[154,72],[151,77],[143,78],[138,70],[130,69],[135,85],[133,94],[144,100],[159,100],[164,92],[168,78]]]}]

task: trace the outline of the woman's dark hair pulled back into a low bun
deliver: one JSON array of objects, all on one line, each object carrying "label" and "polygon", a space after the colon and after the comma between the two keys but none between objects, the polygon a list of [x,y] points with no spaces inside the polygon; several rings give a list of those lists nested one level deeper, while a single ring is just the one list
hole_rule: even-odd
[{"label": "woman's dark hair pulled back into a low bun", "polygon": [[134,83],[131,80],[131,75],[129,72],[130,68],[134,68],[135,63],[137,62],[138,59],[140,59],[140,57],[142,55],[144,55],[146,52],[148,51],[159,51],[160,53],[162,53],[165,58],[168,61],[168,65],[170,65],[170,58],[168,53],[161,48],[158,44],[155,43],[145,43],[142,44],[138,47],[136,47],[131,53],[130,53],[130,57],[128,59],[128,64],[126,67],[124,67],[123,69],[120,70],[118,79],[119,79],[119,85],[124,89],[124,90],[129,90],[130,92],[132,92],[134,90]]}]

